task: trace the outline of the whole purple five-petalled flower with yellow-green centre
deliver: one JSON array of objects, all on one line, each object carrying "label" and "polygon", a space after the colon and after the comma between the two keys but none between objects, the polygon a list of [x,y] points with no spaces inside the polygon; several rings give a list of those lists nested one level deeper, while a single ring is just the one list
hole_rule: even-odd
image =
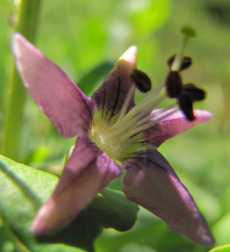
[{"label": "whole purple five-petalled flower with yellow-green centre", "polygon": [[160,92],[164,84],[135,105],[135,89],[151,88],[147,75],[136,68],[135,46],[120,57],[91,98],[20,34],[14,35],[13,51],[24,85],[38,107],[61,136],[78,136],[58,185],[32,223],[34,233],[53,233],[67,226],[124,170],[123,191],[128,199],[192,241],[214,242],[190,193],[157,151],[168,138],[211,118],[207,111],[192,110],[192,102],[198,99],[193,99],[191,88],[183,89],[180,80],[174,95],[175,81],[168,85],[173,96],[183,96],[180,108],[185,115],[188,112],[189,121],[183,112],[172,109],[178,101],[156,109],[168,99]]}]

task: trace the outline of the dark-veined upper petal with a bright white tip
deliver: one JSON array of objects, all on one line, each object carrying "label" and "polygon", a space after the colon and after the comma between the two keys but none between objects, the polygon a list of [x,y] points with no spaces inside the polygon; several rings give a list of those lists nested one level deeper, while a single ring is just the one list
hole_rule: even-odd
[{"label": "dark-veined upper petal with a bright white tip", "polygon": [[[137,48],[131,46],[120,57],[102,86],[92,96],[97,109],[105,111],[103,116],[108,116],[108,120],[120,111],[128,90],[134,85],[131,74],[136,68],[136,61]],[[133,104],[134,96],[130,100],[129,109]]]}]

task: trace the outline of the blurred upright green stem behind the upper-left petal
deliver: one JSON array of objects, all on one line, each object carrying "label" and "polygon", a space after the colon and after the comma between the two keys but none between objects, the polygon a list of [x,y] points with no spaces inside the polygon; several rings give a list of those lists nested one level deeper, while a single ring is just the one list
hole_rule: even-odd
[{"label": "blurred upright green stem behind the upper-left petal", "polygon": [[[34,42],[41,0],[21,0],[15,31]],[[10,92],[5,111],[3,154],[19,159],[20,135],[26,91],[15,68],[12,69]]]}]

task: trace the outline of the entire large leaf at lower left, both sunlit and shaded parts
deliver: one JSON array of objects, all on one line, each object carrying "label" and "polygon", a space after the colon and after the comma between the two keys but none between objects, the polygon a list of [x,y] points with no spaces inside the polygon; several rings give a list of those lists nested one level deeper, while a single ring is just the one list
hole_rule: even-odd
[{"label": "entire large leaf at lower left, both sunlit and shaded parts", "polygon": [[127,231],[134,225],[137,205],[120,192],[104,189],[62,232],[35,237],[31,222],[57,181],[54,175],[0,156],[0,215],[22,251],[94,251],[93,242],[103,228]]}]

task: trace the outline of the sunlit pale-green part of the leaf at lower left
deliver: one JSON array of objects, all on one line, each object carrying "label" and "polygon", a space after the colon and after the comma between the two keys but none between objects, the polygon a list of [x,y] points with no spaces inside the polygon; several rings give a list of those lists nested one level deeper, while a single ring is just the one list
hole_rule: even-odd
[{"label": "sunlit pale-green part of the leaf at lower left", "polygon": [[30,232],[39,207],[58,178],[0,156],[0,215],[21,251],[82,251],[64,244],[39,243]]}]

